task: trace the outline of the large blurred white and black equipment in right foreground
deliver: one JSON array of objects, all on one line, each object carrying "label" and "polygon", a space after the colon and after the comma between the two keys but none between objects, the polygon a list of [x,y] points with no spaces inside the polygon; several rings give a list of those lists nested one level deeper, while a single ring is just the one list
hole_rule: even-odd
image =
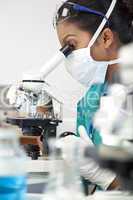
[{"label": "large blurred white and black equipment in right foreground", "polygon": [[109,95],[101,99],[95,117],[103,145],[98,154],[105,168],[114,170],[122,182],[122,189],[133,191],[133,45],[120,51],[121,84],[112,85]]}]

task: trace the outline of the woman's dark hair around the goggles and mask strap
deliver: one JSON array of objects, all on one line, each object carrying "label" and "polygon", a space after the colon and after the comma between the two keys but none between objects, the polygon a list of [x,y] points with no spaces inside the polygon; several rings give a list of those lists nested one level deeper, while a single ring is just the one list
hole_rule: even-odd
[{"label": "woman's dark hair around the goggles and mask strap", "polygon": [[[112,0],[67,0],[66,2],[77,3],[106,14]],[[57,14],[59,17],[56,24],[62,19],[61,13],[65,3],[58,10]],[[76,16],[70,17],[67,20],[77,24],[80,29],[93,34],[102,19],[102,16],[79,12]],[[104,28],[107,27],[108,23]],[[127,44],[133,41],[133,0],[117,1],[115,9],[109,18],[109,28],[118,33],[121,43]]]}]

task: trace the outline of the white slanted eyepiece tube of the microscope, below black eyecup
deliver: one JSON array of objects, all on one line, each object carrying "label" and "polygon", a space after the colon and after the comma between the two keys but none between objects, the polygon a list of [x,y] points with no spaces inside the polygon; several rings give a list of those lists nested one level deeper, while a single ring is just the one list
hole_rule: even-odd
[{"label": "white slanted eyepiece tube of the microscope, below black eyecup", "polygon": [[59,51],[56,55],[51,58],[40,70],[40,74],[42,74],[41,79],[45,79],[65,58],[65,55]]}]

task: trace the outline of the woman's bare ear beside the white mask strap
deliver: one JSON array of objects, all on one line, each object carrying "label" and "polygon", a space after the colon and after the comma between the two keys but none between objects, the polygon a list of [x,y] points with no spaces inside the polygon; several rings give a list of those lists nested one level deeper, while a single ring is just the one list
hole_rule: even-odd
[{"label": "woman's bare ear beside the white mask strap", "polygon": [[105,28],[98,40],[105,49],[108,49],[112,46],[114,42],[114,34],[110,28]]}]

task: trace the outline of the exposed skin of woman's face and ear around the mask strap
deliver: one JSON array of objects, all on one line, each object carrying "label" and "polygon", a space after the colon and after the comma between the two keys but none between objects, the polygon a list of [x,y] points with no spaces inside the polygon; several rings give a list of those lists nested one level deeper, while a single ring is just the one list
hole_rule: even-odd
[{"label": "exposed skin of woman's face and ear around the mask strap", "polygon": [[[73,45],[75,49],[85,48],[88,46],[92,35],[88,31],[81,30],[76,24],[62,22],[57,25],[57,35],[61,46],[65,44]],[[117,58],[116,44],[114,35],[110,29],[105,29],[93,47],[91,56],[98,61],[107,61]]]}]

